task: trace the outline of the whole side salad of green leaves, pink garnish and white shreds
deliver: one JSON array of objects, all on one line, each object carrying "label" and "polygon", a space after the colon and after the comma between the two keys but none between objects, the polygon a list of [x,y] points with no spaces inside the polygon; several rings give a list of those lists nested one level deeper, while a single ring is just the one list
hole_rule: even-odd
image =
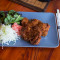
[{"label": "whole side salad of green leaves, pink garnish and white shreds", "polygon": [[0,11],[0,43],[7,44],[11,41],[16,42],[20,38],[20,30],[22,28],[21,14],[18,14],[14,10],[8,12]]}]

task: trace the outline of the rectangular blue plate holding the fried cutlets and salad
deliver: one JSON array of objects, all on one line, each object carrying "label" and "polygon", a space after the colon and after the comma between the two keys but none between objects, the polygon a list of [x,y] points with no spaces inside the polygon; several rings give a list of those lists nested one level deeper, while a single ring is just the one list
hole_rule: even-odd
[{"label": "rectangular blue plate holding the fried cutlets and salad", "polygon": [[[40,43],[38,45],[31,45],[29,42],[26,42],[22,39],[17,40],[16,44],[13,45],[4,45],[7,47],[47,47],[54,48],[58,47],[59,40],[56,28],[56,20],[55,15],[53,13],[43,13],[43,12],[18,12],[22,14],[23,17],[27,17],[28,19],[38,19],[44,23],[48,23],[50,25],[50,29],[48,31],[48,35],[46,37],[42,37]],[[1,44],[0,44],[1,46]]]}]

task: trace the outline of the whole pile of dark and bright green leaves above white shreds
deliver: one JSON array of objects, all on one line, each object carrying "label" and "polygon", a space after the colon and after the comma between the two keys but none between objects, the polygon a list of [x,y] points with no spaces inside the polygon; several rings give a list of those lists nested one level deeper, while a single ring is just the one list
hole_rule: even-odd
[{"label": "whole pile of dark and bright green leaves above white shreds", "polygon": [[17,24],[20,24],[20,20],[22,19],[23,17],[14,10],[10,10],[8,13],[0,11],[0,23],[5,23],[7,25],[16,22]]}]

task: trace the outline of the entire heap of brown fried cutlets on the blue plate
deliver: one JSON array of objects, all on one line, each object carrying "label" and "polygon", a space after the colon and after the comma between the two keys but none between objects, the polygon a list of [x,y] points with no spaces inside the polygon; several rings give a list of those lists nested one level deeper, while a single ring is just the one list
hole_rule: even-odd
[{"label": "entire heap of brown fried cutlets on the blue plate", "polygon": [[23,26],[21,29],[21,37],[33,45],[39,44],[41,36],[46,36],[50,28],[49,24],[42,23],[37,19],[29,21],[27,18],[24,18],[21,24]]}]

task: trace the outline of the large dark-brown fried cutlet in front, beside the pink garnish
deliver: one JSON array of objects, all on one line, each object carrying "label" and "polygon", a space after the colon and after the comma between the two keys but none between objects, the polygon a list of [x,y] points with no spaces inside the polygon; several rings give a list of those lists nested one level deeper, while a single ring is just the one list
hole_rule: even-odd
[{"label": "large dark-brown fried cutlet in front, beside the pink garnish", "polygon": [[41,31],[37,27],[22,27],[21,37],[31,44],[38,44],[41,40]]}]

